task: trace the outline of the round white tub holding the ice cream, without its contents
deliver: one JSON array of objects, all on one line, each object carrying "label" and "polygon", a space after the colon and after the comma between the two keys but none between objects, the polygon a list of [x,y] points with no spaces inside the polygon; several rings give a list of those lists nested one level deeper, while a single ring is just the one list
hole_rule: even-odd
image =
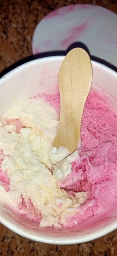
[{"label": "round white tub holding the ice cream, without its contents", "polygon": [[[58,70],[63,56],[46,57],[27,62],[10,71],[0,79],[0,115],[13,104],[16,98],[24,99],[40,92],[56,92]],[[105,89],[117,100],[117,73],[112,69],[92,61],[93,85]],[[117,214],[97,223],[95,227],[77,230],[53,230],[26,227],[0,204],[0,222],[15,233],[34,241],[48,244],[77,244],[99,238],[117,228]]]}]

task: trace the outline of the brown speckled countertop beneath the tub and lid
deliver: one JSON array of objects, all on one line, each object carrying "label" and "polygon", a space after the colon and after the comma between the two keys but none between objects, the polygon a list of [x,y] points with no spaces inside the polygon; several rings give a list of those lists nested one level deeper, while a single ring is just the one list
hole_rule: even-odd
[{"label": "brown speckled countertop beneath the tub and lid", "polygon": [[[0,0],[0,72],[32,54],[37,23],[50,11],[90,3],[117,13],[117,0]],[[22,238],[0,225],[0,256],[117,256],[117,230],[80,245],[54,246]]]}]

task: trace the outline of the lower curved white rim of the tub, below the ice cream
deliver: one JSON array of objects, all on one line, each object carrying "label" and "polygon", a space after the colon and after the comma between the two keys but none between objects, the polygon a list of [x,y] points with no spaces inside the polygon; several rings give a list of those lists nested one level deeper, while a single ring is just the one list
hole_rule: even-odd
[{"label": "lower curved white rim of the tub, below the ice cream", "polygon": [[[70,236],[47,236],[36,233],[35,235],[31,234],[29,230],[26,230],[26,227],[24,228],[23,225],[21,227],[16,226],[16,224],[11,224],[10,221],[6,221],[5,218],[0,216],[0,223],[8,228],[9,230],[13,231],[14,233],[30,239],[35,242],[41,242],[46,244],[53,244],[53,245],[71,245],[71,244],[80,244],[89,242],[92,240],[95,240],[97,238],[100,238],[102,236],[107,235],[108,233],[114,231],[117,229],[117,220],[113,223],[109,224],[108,226],[105,226],[104,228],[99,228],[97,231],[91,232],[91,234],[83,235],[82,237],[79,237],[78,235],[70,235]],[[97,226],[98,227],[98,226]],[[80,234],[80,233],[79,233]]]}]

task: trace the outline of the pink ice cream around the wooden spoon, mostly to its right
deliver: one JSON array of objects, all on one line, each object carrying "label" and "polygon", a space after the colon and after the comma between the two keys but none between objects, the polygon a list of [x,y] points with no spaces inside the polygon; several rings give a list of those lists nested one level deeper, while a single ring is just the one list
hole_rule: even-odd
[{"label": "pink ice cream around the wooden spoon, mostly to its right", "polygon": [[[41,94],[59,115],[59,93]],[[117,210],[117,113],[114,99],[91,90],[81,124],[80,156],[72,172],[58,185],[68,193],[86,191],[88,200],[69,218],[68,227],[84,229],[112,216]]]}]

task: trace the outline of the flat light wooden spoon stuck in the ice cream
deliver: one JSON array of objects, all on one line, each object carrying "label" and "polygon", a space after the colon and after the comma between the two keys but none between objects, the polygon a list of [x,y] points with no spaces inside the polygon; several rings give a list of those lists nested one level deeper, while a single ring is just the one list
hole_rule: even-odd
[{"label": "flat light wooden spoon stuck in the ice cream", "polygon": [[92,83],[92,65],[88,53],[81,48],[70,50],[59,69],[60,118],[53,142],[70,152],[80,143],[82,113]]}]

